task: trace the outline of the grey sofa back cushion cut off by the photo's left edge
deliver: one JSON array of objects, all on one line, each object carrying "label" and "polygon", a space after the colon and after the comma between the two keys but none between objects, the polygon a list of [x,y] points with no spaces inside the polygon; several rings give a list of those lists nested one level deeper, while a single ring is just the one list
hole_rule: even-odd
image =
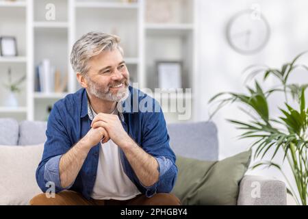
[{"label": "grey sofa back cushion cut off by the photo's left edge", "polygon": [[17,145],[18,122],[14,118],[0,118],[0,144]]}]

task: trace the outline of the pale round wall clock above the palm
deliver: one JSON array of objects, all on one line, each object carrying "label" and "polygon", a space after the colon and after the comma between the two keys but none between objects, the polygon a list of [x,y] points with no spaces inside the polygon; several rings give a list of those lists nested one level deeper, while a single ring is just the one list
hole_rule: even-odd
[{"label": "pale round wall clock above the palm", "polygon": [[256,53],[264,48],[269,38],[270,26],[266,18],[253,10],[235,14],[227,25],[227,40],[239,53]]}]

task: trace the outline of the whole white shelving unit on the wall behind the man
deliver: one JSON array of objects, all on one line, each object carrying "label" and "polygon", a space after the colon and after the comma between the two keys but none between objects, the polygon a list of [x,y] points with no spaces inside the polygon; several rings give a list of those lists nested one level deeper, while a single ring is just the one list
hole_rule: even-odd
[{"label": "whole white shelving unit on the wall behind the man", "polygon": [[[155,19],[149,20],[150,5],[156,3],[155,0],[136,0],[133,3],[124,0],[0,0],[0,36],[16,36],[20,50],[18,57],[0,56],[0,73],[5,74],[5,69],[12,66],[14,72],[23,70],[27,74],[20,107],[10,108],[2,104],[0,117],[12,116],[20,120],[47,118],[46,109],[49,105],[80,88],[69,63],[73,43],[88,31],[102,31],[120,36],[131,81],[138,82],[142,90],[151,88],[154,91],[157,87],[157,60],[183,62],[183,88],[192,88],[192,95],[170,94],[162,99],[192,101],[191,120],[194,120],[194,11],[198,0],[172,1],[176,3],[175,7],[171,7],[172,10],[175,8],[172,11],[175,18],[156,22]],[[53,21],[45,18],[48,3],[55,5]],[[34,89],[36,66],[44,58],[51,60],[63,77],[67,73],[67,88],[64,92],[42,93]],[[5,96],[0,96],[0,99],[5,100]],[[179,122],[176,113],[166,113],[165,117],[168,123]]]}]

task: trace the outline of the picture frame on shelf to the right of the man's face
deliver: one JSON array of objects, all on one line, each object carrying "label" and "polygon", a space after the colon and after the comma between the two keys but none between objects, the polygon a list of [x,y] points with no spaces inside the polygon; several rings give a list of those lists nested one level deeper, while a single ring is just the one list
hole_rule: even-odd
[{"label": "picture frame on shelf to the right of the man's face", "polygon": [[158,88],[182,88],[183,62],[182,61],[157,61],[156,71]]}]

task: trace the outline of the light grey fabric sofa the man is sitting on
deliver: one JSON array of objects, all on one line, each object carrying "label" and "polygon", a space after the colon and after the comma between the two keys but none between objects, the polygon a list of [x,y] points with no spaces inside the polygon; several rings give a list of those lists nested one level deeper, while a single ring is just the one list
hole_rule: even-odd
[{"label": "light grey fabric sofa the man is sitting on", "polygon": [[[20,147],[20,150],[11,151],[10,153],[11,156],[12,153],[20,156],[20,158],[16,159],[21,162],[19,167],[14,166],[12,170],[8,170],[10,168],[7,166],[1,167],[0,160],[0,170],[3,173],[1,175],[0,171],[0,192],[1,190],[6,191],[7,196],[13,193],[16,194],[15,201],[11,200],[12,197],[6,197],[5,199],[5,196],[0,196],[0,205],[27,205],[29,197],[31,198],[40,193],[35,181],[35,168],[42,156],[43,143],[46,140],[46,127],[47,123],[42,121],[24,120],[18,123],[13,118],[0,118],[0,147],[6,147],[8,151],[12,146],[18,147],[18,149]],[[170,146],[176,155],[205,161],[218,160],[218,130],[214,123],[168,124],[167,129],[170,136]],[[23,152],[23,150],[27,149],[27,146],[35,147],[34,152]],[[21,151],[21,155],[18,155],[19,151]],[[1,153],[0,159],[1,156],[2,159],[3,157],[5,158],[5,149]],[[28,163],[31,162],[33,164],[29,167]],[[25,165],[26,163],[27,165]],[[10,160],[7,160],[3,165],[12,164],[10,164]],[[23,181],[23,198],[17,197],[21,192],[16,192],[18,190],[17,186],[20,185],[20,183],[16,184],[16,180],[13,179],[16,175],[20,177],[18,181],[21,181],[21,179]],[[27,179],[24,180],[23,178]],[[261,195],[257,197],[251,195],[254,188],[253,184],[256,182],[261,189]],[[286,205],[286,187],[283,181],[244,175],[238,186],[238,205]]]}]

